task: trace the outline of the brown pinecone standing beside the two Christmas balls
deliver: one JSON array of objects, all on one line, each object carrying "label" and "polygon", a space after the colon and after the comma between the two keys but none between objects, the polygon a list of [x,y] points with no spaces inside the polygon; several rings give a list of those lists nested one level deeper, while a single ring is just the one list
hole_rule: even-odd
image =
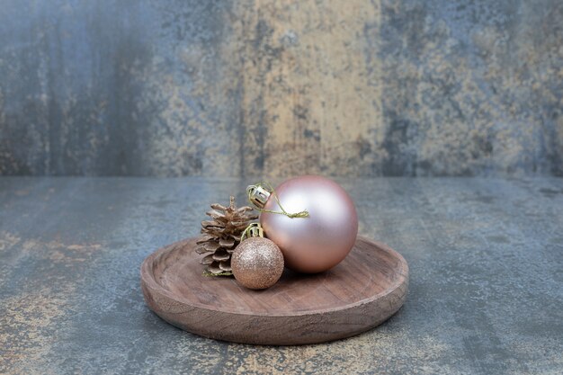
[{"label": "brown pinecone standing beside the two Christmas balls", "polygon": [[235,197],[230,197],[228,207],[219,203],[211,204],[206,212],[211,220],[201,221],[201,237],[196,244],[198,254],[211,253],[201,259],[205,271],[212,275],[232,275],[230,258],[240,243],[240,236],[252,220],[258,219],[252,207],[235,206]]}]

